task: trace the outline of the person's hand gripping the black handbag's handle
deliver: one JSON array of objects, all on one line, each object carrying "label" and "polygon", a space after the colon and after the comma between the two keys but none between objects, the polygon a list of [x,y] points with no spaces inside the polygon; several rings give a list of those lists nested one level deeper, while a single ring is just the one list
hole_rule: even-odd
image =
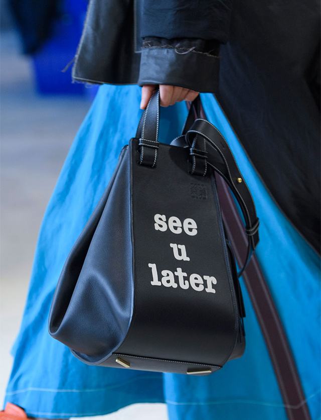
[{"label": "person's hand gripping the black handbag's handle", "polygon": [[152,92],[159,86],[159,99],[162,107],[174,105],[182,100],[193,101],[200,92],[180,86],[171,86],[167,84],[144,84],[141,88],[140,109],[144,110],[147,106]]}]

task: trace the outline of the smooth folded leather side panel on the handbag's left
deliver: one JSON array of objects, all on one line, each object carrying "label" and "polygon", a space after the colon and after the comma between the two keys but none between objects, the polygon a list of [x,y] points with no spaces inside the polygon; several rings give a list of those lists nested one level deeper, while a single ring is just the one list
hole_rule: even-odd
[{"label": "smooth folded leather side panel on the handbag's left", "polygon": [[[121,194],[119,194],[121,191]],[[88,364],[111,354],[132,316],[129,154],[70,251],[49,315],[49,332]]]}]

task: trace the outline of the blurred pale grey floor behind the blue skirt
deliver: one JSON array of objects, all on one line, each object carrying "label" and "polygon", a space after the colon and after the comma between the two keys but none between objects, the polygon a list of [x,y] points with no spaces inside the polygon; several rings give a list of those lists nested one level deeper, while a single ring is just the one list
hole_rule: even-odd
[{"label": "blurred pale grey floor behind the blue skirt", "polygon": [[[17,36],[1,34],[0,403],[12,366],[43,214],[91,101],[40,96]],[[1,409],[1,408],[0,408]],[[98,417],[95,417],[98,420]],[[106,420],[165,420],[165,404],[134,404]],[[100,417],[99,417],[100,419]]]}]

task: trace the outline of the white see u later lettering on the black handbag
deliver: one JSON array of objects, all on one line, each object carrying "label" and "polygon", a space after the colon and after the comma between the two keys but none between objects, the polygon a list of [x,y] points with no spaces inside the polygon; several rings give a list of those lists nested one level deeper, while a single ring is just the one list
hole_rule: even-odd
[{"label": "white see u later lettering on the black handbag", "polygon": [[[183,230],[186,235],[195,236],[197,235],[197,224],[195,220],[187,218],[183,221],[180,221],[179,218],[175,216],[171,216],[168,219],[165,215],[156,214],[154,216],[154,229],[156,231],[166,232],[168,229],[176,234],[180,235],[183,233]],[[178,244],[169,244],[170,247],[173,249],[173,255],[176,260],[183,260],[183,261],[190,261],[190,257],[187,255],[185,245],[178,245]],[[152,280],[150,284],[152,286],[165,286],[165,287],[173,287],[176,289],[180,286],[182,289],[188,289],[191,285],[191,288],[200,292],[205,289],[208,293],[216,293],[216,290],[213,288],[214,284],[217,284],[217,280],[214,276],[200,276],[199,274],[193,273],[188,276],[181,267],[177,267],[176,271],[173,273],[171,270],[162,270],[161,280],[158,279],[158,271],[156,264],[148,264],[148,267],[151,268],[151,275]],[[178,283],[175,281],[177,276]],[[188,277],[188,278],[187,278]],[[206,283],[206,287],[205,287]]]}]

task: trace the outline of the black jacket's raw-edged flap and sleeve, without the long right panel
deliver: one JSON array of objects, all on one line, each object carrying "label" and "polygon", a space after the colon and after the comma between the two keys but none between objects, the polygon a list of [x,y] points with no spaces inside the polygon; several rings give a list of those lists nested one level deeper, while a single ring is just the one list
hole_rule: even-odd
[{"label": "black jacket's raw-edged flap and sleeve, without the long right panel", "polygon": [[208,4],[208,0],[90,0],[73,78],[217,92],[218,52],[220,42],[228,39],[230,0]]}]

